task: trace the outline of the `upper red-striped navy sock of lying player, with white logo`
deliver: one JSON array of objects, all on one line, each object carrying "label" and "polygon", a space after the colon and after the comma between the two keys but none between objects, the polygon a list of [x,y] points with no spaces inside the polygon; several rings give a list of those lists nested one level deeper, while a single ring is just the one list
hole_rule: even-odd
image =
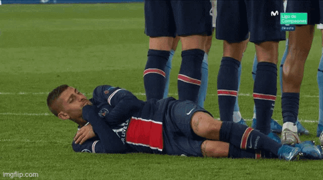
[{"label": "upper red-striped navy sock of lying player, with white logo", "polygon": [[222,122],[220,141],[228,142],[240,149],[261,150],[264,152],[272,152],[275,155],[278,154],[278,149],[282,146],[282,144],[258,130],[229,121]]}]

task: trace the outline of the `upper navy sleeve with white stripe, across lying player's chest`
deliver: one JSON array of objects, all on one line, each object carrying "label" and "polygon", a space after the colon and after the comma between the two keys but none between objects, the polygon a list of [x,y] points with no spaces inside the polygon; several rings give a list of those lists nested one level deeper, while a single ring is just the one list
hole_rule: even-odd
[{"label": "upper navy sleeve with white stripe, across lying player's chest", "polygon": [[93,97],[103,99],[112,107],[112,110],[103,117],[111,126],[124,123],[143,106],[143,101],[138,100],[131,92],[111,85],[96,87]]}]

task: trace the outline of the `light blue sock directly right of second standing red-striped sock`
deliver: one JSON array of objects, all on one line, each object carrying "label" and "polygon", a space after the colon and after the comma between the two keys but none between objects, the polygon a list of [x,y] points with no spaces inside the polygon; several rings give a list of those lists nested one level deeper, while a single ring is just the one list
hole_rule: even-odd
[{"label": "light blue sock directly right of second standing red-striped sock", "polygon": [[200,89],[198,91],[198,106],[204,107],[204,101],[206,99],[206,91],[207,91],[207,82],[208,82],[208,62],[207,62],[207,53],[204,53],[204,58],[202,62],[202,68],[201,68],[201,85]]}]

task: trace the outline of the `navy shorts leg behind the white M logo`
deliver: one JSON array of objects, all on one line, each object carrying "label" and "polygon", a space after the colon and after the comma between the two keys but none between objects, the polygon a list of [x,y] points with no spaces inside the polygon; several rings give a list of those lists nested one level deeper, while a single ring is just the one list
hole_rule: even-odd
[{"label": "navy shorts leg behind the white M logo", "polygon": [[284,12],[282,0],[245,0],[245,5],[250,31],[250,42],[261,43],[265,41],[285,40],[285,32],[281,31],[280,24],[280,13]]}]

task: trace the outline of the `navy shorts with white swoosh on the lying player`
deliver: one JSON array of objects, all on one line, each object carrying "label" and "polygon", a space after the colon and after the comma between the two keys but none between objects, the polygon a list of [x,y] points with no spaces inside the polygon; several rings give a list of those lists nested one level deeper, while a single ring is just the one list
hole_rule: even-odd
[{"label": "navy shorts with white swoosh on the lying player", "polygon": [[[191,128],[195,112],[208,113],[191,101],[176,101],[168,107],[163,123],[164,153],[169,155],[203,156],[201,144],[205,138],[197,136]],[[210,114],[210,113],[208,113]]]}]

